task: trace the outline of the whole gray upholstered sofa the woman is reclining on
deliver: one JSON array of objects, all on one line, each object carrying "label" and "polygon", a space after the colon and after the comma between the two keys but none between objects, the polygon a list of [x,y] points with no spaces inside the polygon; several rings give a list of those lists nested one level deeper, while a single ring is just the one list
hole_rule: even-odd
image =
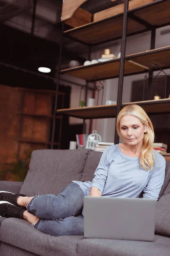
[{"label": "whole gray upholstered sofa the woman is reclining on", "polygon": [[[92,180],[101,155],[88,149],[33,151],[25,181],[0,181],[0,190],[57,195],[71,180]],[[0,256],[170,256],[170,162],[159,198],[153,242],[55,237],[25,220],[1,217]]]}]

